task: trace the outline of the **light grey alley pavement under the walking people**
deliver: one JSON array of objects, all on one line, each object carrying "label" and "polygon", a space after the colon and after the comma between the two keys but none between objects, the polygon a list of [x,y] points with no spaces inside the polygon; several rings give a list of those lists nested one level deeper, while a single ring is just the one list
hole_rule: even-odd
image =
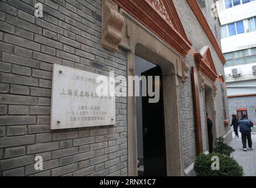
[{"label": "light grey alley pavement under the walking people", "polygon": [[241,133],[239,132],[239,138],[235,137],[235,133],[232,133],[233,140],[230,143],[230,146],[235,149],[235,152],[232,153],[234,159],[244,167],[245,176],[256,176],[256,127],[254,126],[255,133],[252,133],[252,147],[254,150],[248,150],[247,143],[247,152],[244,152],[242,148],[242,139]]}]

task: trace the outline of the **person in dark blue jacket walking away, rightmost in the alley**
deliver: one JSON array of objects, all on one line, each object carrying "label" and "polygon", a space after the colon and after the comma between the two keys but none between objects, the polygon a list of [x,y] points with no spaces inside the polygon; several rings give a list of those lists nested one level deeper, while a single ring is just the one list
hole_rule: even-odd
[{"label": "person in dark blue jacket walking away, rightmost in the alley", "polygon": [[249,148],[253,149],[251,141],[251,127],[253,127],[253,123],[247,119],[247,115],[242,115],[242,119],[238,121],[238,126],[242,135],[242,147],[244,147],[244,151],[247,151],[246,140],[248,140]]}]

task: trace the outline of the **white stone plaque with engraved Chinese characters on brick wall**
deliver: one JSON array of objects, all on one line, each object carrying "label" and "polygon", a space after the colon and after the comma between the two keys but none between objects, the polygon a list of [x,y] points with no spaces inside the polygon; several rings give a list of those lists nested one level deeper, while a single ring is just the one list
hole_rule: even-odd
[{"label": "white stone plaque with engraved Chinese characters on brick wall", "polygon": [[114,76],[54,64],[51,129],[114,125],[114,86]]}]

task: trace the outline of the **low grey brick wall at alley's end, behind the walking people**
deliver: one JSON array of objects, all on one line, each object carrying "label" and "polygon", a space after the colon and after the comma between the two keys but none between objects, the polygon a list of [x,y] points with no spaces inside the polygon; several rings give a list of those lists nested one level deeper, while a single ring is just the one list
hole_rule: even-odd
[{"label": "low grey brick wall at alley's end, behind the walking people", "polygon": [[256,123],[256,96],[245,96],[241,98],[228,98],[228,106],[230,108],[230,120],[232,114],[237,114],[235,109],[247,108],[248,119]]}]

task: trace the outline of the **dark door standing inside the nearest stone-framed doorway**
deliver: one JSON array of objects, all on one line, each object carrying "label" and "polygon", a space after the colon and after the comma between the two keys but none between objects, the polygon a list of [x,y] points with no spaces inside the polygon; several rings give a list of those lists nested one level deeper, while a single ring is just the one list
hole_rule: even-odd
[{"label": "dark door standing inside the nearest stone-framed doorway", "polygon": [[155,84],[159,84],[155,83],[156,80],[154,76],[160,76],[159,101],[157,103],[149,103],[148,99],[150,97],[142,96],[144,175],[166,176],[167,167],[162,71],[161,68],[157,66],[143,72],[141,75],[146,77],[153,76],[153,91],[155,90]]}]

